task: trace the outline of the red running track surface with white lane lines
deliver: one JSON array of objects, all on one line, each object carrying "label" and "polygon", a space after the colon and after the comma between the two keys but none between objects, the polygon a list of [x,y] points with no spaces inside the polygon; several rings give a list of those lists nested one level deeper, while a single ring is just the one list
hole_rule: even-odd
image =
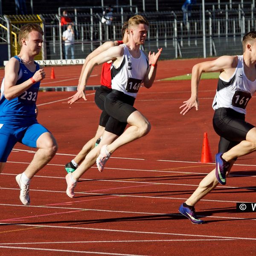
[{"label": "red running track surface with white lane lines", "polygon": [[[158,77],[182,68],[190,73],[192,63],[183,64],[166,61]],[[149,90],[141,88],[135,106],[151,122],[151,132],[119,148],[104,172],[89,169],[73,199],[65,193],[64,164],[96,131],[100,111],[94,91],[87,91],[87,102],[71,106],[67,97],[74,92],[39,93],[38,120],[52,131],[59,150],[33,178],[29,207],[20,203],[15,175],[26,168],[34,149],[17,144],[12,151],[0,183],[1,255],[254,255],[255,213],[236,212],[236,202],[255,201],[255,154],[241,157],[227,185],[198,203],[206,224],[193,225],[178,213],[214,167],[198,160],[204,132],[212,155],[217,151],[211,108],[215,89],[216,80],[202,81],[199,111],[181,116],[190,81],[157,81]],[[255,108],[253,97],[248,122],[256,123]]]}]

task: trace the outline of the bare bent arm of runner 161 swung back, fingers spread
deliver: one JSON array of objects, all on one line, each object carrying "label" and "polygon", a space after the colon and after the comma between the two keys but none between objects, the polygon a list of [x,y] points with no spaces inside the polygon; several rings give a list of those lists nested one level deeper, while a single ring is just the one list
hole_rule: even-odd
[{"label": "bare bent arm of runner 161 swung back, fingers spread", "polygon": [[237,66],[237,63],[237,56],[221,56],[214,61],[204,61],[196,64],[192,68],[191,97],[184,101],[184,104],[180,106],[180,108],[183,108],[180,113],[185,115],[194,107],[198,110],[198,84],[203,72],[223,71],[227,75],[231,76],[234,72],[233,69]]}]

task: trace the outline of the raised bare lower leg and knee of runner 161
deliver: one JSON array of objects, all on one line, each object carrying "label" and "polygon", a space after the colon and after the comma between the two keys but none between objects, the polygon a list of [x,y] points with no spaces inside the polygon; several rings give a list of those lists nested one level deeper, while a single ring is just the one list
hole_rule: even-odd
[{"label": "raised bare lower leg and knee of runner 161", "polygon": [[256,128],[252,128],[246,135],[246,140],[231,148],[222,155],[223,159],[230,161],[236,157],[241,157],[256,151]]}]

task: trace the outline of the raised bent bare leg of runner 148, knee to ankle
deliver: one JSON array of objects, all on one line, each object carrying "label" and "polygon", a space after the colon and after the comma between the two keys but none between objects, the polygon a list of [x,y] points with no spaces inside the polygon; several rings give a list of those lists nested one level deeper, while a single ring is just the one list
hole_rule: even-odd
[{"label": "raised bent bare leg of runner 148, knee to ankle", "polygon": [[131,115],[128,116],[127,122],[131,126],[128,127],[120,137],[114,140],[113,143],[107,146],[107,150],[111,154],[120,146],[145,136],[151,129],[148,119],[139,111],[131,113]]}]

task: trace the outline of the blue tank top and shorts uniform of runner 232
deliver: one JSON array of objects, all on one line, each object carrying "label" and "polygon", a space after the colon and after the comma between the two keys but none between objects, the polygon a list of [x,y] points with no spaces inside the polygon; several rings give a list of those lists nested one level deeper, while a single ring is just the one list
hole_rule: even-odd
[{"label": "blue tank top and shorts uniform of runner 232", "polygon": [[[18,56],[20,62],[16,85],[30,79],[40,69],[35,62],[35,72],[31,72]],[[36,148],[36,141],[45,132],[49,132],[36,119],[35,108],[40,81],[33,84],[20,96],[7,100],[4,96],[4,81],[0,96],[0,162],[6,162],[17,142]]]}]

